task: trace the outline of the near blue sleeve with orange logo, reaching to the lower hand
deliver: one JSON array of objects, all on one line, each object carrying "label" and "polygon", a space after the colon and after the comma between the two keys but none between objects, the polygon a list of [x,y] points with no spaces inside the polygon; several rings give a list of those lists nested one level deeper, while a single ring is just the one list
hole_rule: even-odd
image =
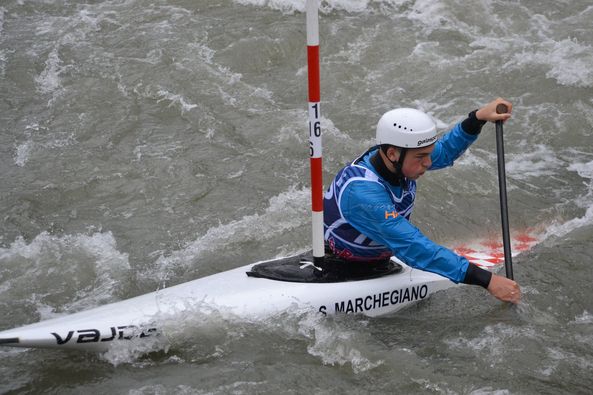
[{"label": "near blue sleeve with orange logo, reaching to the lower hand", "polygon": [[340,208],[354,228],[389,247],[407,265],[455,283],[464,280],[469,261],[432,242],[404,217],[395,215],[395,207],[379,183],[350,183],[342,194]]}]

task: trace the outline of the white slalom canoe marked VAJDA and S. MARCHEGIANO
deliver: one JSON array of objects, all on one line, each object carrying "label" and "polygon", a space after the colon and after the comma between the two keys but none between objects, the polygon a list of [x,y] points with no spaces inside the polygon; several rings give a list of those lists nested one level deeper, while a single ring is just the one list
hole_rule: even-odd
[{"label": "white slalom canoe marked VAJDA and S. MARCHEGIANO", "polygon": [[[519,247],[516,251],[525,251],[538,241],[536,237],[528,238],[527,242],[525,236],[514,240]],[[482,241],[461,244],[454,250],[484,268],[496,269],[504,263],[500,248]],[[159,317],[200,310],[222,311],[249,320],[296,309],[381,316],[455,286],[440,275],[413,269],[395,258],[392,262],[401,266],[399,272],[356,281],[308,283],[247,275],[256,265],[291,259],[302,263],[295,256],[249,264],[91,310],[5,330],[0,332],[0,345],[106,351],[118,341],[166,337],[167,333],[159,327]]]}]

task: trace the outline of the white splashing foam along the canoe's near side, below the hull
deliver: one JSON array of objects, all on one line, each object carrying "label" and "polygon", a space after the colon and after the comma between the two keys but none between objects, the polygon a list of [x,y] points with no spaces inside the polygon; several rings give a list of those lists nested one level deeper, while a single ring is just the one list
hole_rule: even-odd
[{"label": "white splashing foam along the canoe's near side, below the hull", "polygon": [[[309,308],[293,305],[264,320],[237,317],[226,308],[204,301],[186,301],[178,312],[157,314],[152,322],[159,334],[113,344],[102,358],[114,366],[136,364],[149,352],[164,351],[175,360],[219,360],[233,358],[233,350],[253,343],[254,352],[296,342],[328,366],[350,367],[356,374],[382,366],[382,351],[365,331],[366,321],[351,316],[325,317]],[[262,348],[261,345],[266,346]],[[250,354],[251,358],[257,358]],[[140,362],[141,363],[141,362]]]}]

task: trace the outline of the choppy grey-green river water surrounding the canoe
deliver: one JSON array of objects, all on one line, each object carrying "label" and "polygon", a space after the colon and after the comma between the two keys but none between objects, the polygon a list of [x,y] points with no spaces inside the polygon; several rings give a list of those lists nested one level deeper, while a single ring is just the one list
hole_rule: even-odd
[{"label": "choppy grey-green river water surrounding the canoe", "polygon": [[[1,348],[0,393],[591,393],[591,21],[584,0],[321,4],[326,186],[391,108],[444,132],[514,103],[511,229],[543,235],[519,306],[459,287],[383,318],[180,316],[147,355]],[[307,250],[305,66],[304,1],[2,1],[0,329]],[[500,232],[494,126],[418,188],[436,242]]]}]

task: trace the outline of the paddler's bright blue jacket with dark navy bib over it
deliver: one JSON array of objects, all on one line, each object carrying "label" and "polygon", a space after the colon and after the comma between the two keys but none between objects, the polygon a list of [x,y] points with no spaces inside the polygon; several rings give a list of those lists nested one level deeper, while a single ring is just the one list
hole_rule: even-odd
[{"label": "paddler's bright blue jacket with dark navy bib over it", "polygon": [[[477,139],[461,124],[436,142],[429,170],[453,162]],[[458,283],[469,262],[435,244],[409,222],[416,182],[393,186],[371,164],[371,150],[338,172],[324,196],[325,239],[331,250],[349,260],[372,261],[391,255],[421,270],[438,273]]]}]

